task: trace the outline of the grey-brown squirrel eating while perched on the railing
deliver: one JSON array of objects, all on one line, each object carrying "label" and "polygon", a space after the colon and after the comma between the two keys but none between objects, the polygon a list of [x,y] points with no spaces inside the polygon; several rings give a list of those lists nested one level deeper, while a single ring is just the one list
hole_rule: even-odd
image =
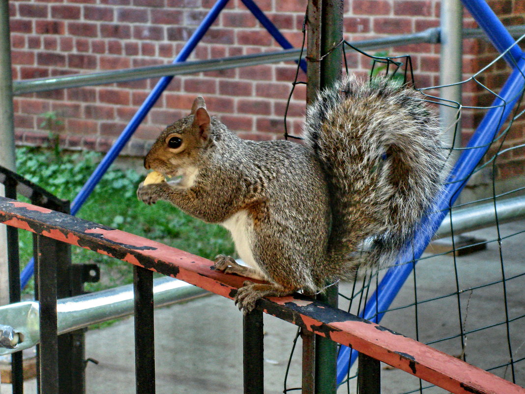
[{"label": "grey-brown squirrel eating while perched on the railing", "polygon": [[442,190],[442,132],[412,88],[344,77],[318,94],[304,129],[304,144],[243,140],[197,97],[144,158],[177,181],[141,183],[139,200],[223,225],[248,266],[218,255],[215,268],[267,282],[238,289],[243,313],[392,264]]}]

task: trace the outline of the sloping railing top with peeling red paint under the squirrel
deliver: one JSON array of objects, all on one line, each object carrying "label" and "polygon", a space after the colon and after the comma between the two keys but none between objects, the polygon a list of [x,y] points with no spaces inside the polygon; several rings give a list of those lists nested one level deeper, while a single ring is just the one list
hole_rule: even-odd
[{"label": "sloping railing top with peeling red paint under the squirrel", "polygon": [[[0,198],[0,223],[88,248],[233,298],[244,278],[205,258],[120,230]],[[302,295],[262,299],[258,308],[455,394],[525,394],[525,389],[382,326]]]}]

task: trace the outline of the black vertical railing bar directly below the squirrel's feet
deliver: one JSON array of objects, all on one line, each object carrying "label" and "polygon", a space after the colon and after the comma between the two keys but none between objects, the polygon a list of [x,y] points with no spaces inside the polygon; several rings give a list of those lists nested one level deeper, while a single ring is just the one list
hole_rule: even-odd
[{"label": "black vertical railing bar directly below the squirrel's feet", "polygon": [[264,393],[263,355],[262,312],[254,309],[243,316],[244,394]]}]

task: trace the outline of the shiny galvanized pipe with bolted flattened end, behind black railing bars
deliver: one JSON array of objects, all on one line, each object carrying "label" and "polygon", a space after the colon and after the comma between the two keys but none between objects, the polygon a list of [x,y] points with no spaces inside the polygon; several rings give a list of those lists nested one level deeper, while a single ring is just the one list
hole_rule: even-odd
[{"label": "shiny galvanized pipe with bolted flattened end, behind black railing bars", "polygon": [[[153,281],[154,306],[161,307],[211,293],[185,282],[163,277]],[[13,327],[24,339],[15,349],[0,347],[0,356],[39,343],[39,304],[21,302],[0,307],[0,324]],[[133,285],[62,298],[57,301],[58,334],[133,314]]]}]

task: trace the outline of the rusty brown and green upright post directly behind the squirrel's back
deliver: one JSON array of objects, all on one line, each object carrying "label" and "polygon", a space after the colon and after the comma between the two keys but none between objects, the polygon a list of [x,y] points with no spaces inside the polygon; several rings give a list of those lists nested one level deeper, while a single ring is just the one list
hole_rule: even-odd
[{"label": "rusty brown and green upright post directly behind the squirrel's back", "polygon": [[[342,39],[342,0],[310,0],[308,2],[307,105],[315,100],[320,89],[332,85],[341,77]],[[318,296],[318,299],[337,307],[338,286],[329,287],[324,294]],[[316,336],[313,344],[313,341],[304,335],[303,392],[335,393],[337,345],[321,336]],[[311,358],[308,355],[313,349],[315,357],[312,376],[311,365],[308,365]]]}]

